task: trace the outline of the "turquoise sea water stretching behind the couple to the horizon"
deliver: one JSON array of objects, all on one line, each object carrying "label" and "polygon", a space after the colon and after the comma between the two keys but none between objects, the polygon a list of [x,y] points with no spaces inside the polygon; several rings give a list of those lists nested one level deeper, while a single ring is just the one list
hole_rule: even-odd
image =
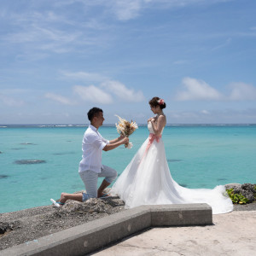
[{"label": "turquoise sea water stretching behind the couple to the horizon", "polygon": [[[84,189],[78,169],[86,128],[0,125],[0,212],[49,205],[61,192]],[[99,131],[109,140],[119,136],[114,125]],[[147,137],[139,125],[133,148],[103,151],[102,163],[120,175]],[[172,177],[184,187],[256,183],[256,125],[166,125],[162,138]]]}]

